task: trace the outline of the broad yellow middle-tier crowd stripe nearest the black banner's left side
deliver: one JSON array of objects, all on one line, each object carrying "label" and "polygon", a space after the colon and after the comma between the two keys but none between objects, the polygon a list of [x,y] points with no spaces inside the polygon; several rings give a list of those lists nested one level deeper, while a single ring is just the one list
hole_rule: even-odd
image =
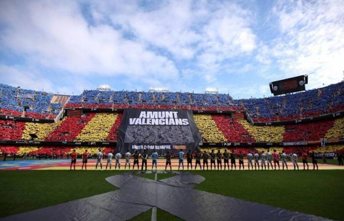
[{"label": "broad yellow middle-tier crowd stripe nearest the black banner's left side", "polygon": [[97,113],[78,135],[78,141],[104,141],[115,123],[117,113]]}]

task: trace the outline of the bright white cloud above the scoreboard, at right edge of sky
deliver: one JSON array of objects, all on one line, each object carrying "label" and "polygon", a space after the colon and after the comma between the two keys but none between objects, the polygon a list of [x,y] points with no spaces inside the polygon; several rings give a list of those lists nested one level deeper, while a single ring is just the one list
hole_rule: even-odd
[{"label": "bright white cloud above the scoreboard, at right edge of sky", "polygon": [[342,0],[277,2],[272,19],[280,35],[256,59],[269,65],[272,56],[284,77],[308,74],[308,88],[338,83],[344,70],[343,8]]}]

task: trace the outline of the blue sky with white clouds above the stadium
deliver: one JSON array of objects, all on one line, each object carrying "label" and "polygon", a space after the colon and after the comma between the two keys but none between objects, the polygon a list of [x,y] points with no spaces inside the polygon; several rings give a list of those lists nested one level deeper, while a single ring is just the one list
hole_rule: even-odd
[{"label": "blue sky with white clouds above the stadium", "polygon": [[0,83],[59,94],[113,90],[270,96],[307,74],[344,77],[344,0],[1,0]]}]

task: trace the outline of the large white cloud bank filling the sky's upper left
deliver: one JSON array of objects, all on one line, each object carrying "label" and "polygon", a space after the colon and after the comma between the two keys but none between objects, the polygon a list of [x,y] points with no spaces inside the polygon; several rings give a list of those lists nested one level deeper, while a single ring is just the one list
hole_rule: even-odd
[{"label": "large white cloud bank filling the sky's upper left", "polygon": [[78,74],[177,76],[166,56],[109,25],[89,26],[77,2],[1,1],[0,8],[1,44],[29,62]]}]

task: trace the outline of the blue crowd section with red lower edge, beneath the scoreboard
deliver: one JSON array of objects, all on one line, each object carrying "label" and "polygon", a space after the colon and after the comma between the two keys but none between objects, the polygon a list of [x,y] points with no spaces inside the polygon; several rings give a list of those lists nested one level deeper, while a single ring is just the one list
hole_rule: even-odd
[{"label": "blue crowd section with red lower edge, beneath the scoreboard", "polygon": [[240,100],[255,122],[318,116],[344,109],[344,82],[285,96]]}]

